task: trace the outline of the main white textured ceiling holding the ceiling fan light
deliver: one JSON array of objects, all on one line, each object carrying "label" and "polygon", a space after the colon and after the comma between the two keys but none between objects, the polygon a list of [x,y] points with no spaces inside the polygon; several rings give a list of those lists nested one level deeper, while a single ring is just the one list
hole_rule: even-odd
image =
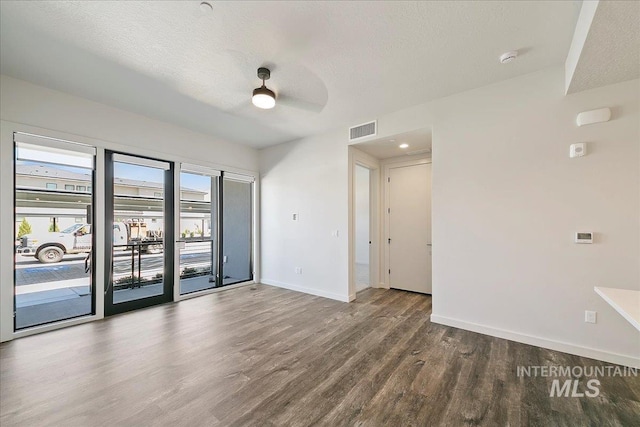
[{"label": "main white textured ceiling holding the ceiling fan light", "polygon": [[[260,148],[561,65],[580,7],[199,3],[2,1],[0,71]],[[264,65],[282,101],[269,111],[250,105]]]}]

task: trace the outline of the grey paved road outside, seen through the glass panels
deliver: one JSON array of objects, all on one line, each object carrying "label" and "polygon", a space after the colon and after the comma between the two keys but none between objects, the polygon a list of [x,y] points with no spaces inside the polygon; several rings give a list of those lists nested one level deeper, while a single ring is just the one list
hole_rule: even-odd
[{"label": "grey paved road outside, seen through the glass panels", "polygon": [[[16,261],[16,286],[32,285],[35,283],[63,281],[87,277],[84,272],[84,254],[66,255],[62,262],[56,264],[42,264],[33,257],[19,255]],[[161,272],[163,268],[163,254],[142,254],[141,271]],[[137,274],[138,254],[135,254],[135,268]],[[210,265],[210,252],[191,252],[180,255],[180,265],[204,266]],[[114,258],[114,276],[122,277],[131,274],[131,252],[117,254]]]}]

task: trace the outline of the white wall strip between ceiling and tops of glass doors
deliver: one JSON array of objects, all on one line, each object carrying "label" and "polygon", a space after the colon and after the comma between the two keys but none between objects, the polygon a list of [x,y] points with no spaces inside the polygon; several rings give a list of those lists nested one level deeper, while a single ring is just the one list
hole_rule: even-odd
[{"label": "white wall strip between ceiling and tops of glass doors", "polygon": [[191,160],[227,171],[258,168],[253,148],[109,107],[84,98],[0,76],[0,118],[43,129],[105,141],[169,160]]}]

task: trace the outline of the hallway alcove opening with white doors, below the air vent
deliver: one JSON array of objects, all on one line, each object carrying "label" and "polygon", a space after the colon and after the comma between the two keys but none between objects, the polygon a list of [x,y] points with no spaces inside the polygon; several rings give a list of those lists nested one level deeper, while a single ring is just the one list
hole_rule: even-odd
[{"label": "hallway alcove opening with white doors, below the air vent", "polygon": [[431,141],[428,127],[349,147],[350,300],[367,287],[432,293]]}]

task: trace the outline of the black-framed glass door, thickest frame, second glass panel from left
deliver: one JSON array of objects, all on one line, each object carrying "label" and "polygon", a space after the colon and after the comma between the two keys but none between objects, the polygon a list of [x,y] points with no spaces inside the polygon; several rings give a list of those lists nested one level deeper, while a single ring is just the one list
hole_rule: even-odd
[{"label": "black-framed glass door, thickest frame, second glass panel from left", "polygon": [[173,300],[173,163],[107,151],[105,314]]}]

